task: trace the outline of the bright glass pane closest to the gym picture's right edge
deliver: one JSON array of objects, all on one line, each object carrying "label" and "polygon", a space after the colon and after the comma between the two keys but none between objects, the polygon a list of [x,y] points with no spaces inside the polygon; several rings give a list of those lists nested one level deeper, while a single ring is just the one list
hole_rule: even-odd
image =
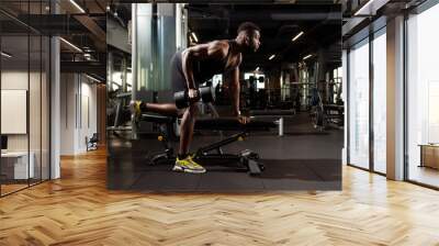
[{"label": "bright glass pane closest to the gym picture's right edge", "polygon": [[369,169],[369,41],[349,53],[349,163]]}]

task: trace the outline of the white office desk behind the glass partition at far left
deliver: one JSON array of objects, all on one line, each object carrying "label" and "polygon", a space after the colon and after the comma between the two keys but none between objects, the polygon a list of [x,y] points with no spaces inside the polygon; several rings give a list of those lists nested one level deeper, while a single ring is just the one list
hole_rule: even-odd
[{"label": "white office desk behind the glass partition at far left", "polygon": [[7,179],[27,179],[34,178],[35,155],[33,152],[29,153],[31,161],[27,168],[27,152],[7,152],[1,153],[1,172]]}]

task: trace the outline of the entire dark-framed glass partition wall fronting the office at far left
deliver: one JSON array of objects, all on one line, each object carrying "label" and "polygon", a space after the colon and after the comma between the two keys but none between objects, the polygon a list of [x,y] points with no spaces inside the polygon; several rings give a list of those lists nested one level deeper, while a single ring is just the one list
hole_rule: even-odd
[{"label": "entire dark-framed glass partition wall fronting the office at far left", "polygon": [[[49,37],[25,24],[48,1],[0,3],[0,195],[49,179]],[[8,9],[5,8],[5,9]]]}]

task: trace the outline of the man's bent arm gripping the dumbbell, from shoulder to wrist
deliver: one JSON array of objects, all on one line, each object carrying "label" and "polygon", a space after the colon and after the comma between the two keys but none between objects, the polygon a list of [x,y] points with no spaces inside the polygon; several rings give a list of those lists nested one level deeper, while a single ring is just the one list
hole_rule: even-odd
[{"label": "man's bent arm gripping the dumbbell, from shoulder to wrist", "polygon": [[189,89],[195,89],[195,82],[193,79],[192,64],[194,60],[203,60],[207,58],[224,58],[226,54],[226,47],[222,42],[211,42],[207,44],[199,44],[193,47],[184,49],[181,54],[183,74],[188,83]]}]

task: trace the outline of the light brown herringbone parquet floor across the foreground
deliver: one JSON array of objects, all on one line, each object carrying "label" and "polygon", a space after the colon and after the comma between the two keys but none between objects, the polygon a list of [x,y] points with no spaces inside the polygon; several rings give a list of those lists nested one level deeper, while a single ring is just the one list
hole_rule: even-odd
[{"label": "light brown herringbone parquet floor across the foreground", "polygon": [[0,245],[439,245],[439,192],[350,167],[340,192],[114,192],[100,150],[0,199]]}]

